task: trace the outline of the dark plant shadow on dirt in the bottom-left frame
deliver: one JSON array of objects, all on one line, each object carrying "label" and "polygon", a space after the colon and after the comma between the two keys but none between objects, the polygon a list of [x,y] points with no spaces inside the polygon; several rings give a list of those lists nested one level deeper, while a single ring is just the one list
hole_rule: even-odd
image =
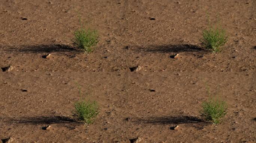
[{"label": "dark plant shadow on dirt in the bottom-left frame", "polygon": [[71,117],[65,116],[41,116],[41,117],[18,117],[18,118],[1,118],[4,123],[21,124],[21,125],[56,125],[58,127],[67,127],[74,129],[83,122],[77,121]]}]

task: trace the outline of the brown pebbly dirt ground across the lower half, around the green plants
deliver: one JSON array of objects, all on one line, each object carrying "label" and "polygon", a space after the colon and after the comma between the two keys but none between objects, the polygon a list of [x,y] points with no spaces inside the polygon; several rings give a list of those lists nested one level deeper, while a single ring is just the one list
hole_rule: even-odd
[{"label": "brown pebbly dirt ground across the lower half, around the green plants", "polygon": [[[0,137],[18,142],[255,142],[252,72],[17,72],[0,74]],[[72,120],[78,82],[101,112],[89,126]],[[201,103],[218,88],[228,114],[201,120]],[[217,86],[218,85],[218,86]],[[23,90],[22,90],[23,89]],[[24,91],[27,90],[27,91]],[[150,89],[154,89],[152,92]],[[42,127],[51,125],[49,131]],[[177,131],[170,128],[179,125]]]}]

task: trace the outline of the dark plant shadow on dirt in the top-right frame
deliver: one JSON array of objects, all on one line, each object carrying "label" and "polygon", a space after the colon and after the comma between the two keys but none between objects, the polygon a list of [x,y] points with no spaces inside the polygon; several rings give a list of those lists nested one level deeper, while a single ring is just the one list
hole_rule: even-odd
[{"label": "dark plant shadow on dirt in the top-right frame", "polygon": [[211,53],[198,45],[191,44],[169,44],[169,45],[146,45],[134,46],[136,51],[144,51],[145,53],[183,53],[183,55],[204,55]]}]

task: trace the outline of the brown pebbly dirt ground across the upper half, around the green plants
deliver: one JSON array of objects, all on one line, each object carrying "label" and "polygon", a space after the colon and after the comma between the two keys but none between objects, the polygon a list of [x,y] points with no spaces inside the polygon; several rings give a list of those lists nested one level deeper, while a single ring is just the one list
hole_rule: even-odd
[{"label": "brown pebbly dirt ground across the upper half, around the green plants", "polygon": [[[138,65],[147,71],[255,71],[255,5],[255,0],[4,0],[0,66],[11,64],[19,71],[129,71]],[[100,43],[89,55],[70,44],[79,28],[78,12],[100,32]],[[212,22],[219,15],[229,34],[217,55],[199,44],[206,12]],[[42,58],[48,53],[50,60]],[[177,53],[179,60],[170,58]]]}]

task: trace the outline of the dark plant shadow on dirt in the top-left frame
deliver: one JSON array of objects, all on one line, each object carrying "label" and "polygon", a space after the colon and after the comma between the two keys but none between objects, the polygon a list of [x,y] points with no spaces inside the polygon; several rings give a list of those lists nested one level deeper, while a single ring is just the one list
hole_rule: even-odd
[{"label": "dark plant shadow on dirt in the top-left frame", "polygon": [[52,44],[52,45],[19,45],[19,46],[1,46],[4,51],[15,54],[45,54],[67,55],[75,57],[76,54],[84,53],[82,50],[73,48],[69,45]]}]

